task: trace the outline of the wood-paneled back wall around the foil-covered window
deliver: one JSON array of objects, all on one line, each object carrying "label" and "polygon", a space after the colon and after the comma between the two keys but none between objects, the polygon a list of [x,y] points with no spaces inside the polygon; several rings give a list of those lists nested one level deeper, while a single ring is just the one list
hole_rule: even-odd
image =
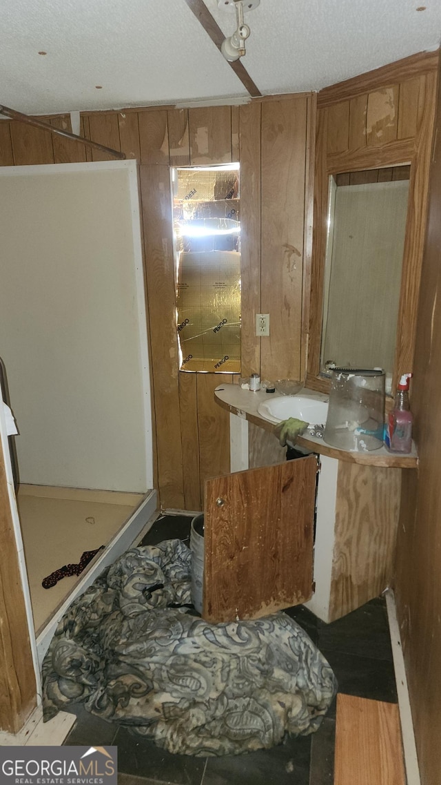
[{"label": "wood-paneled back wall around the foil-covered window", "polygon": [[[240,161],[242,374],[302,378],[305,355],[305,177],[315,99],[309,94],[239,107],[146,108],[81,115],[85,137],[140,164],[154,400],[155,483],[161,506],[202,509],[204,480],[230,470],[230,425],[213,391],[231,374],[178,370],[170,166]],[[70,130],[69,115],[50,118]],[[0,123],[0,165],[69,163],[107,156],[19,122]],[[309,236],[309,235],[307,235]],[[306,243],[307,246],[308,243]],[[269,312],[269,338],[255,313]]]}]

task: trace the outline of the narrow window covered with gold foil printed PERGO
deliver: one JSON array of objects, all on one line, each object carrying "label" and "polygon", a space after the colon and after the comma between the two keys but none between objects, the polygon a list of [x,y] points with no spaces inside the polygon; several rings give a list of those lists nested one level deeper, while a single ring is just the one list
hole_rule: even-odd
[{"label": "narrow window covered with gold foil printed PERGO", "polygon": [[240,373],[239,164],[172,170],[179,369]]}]

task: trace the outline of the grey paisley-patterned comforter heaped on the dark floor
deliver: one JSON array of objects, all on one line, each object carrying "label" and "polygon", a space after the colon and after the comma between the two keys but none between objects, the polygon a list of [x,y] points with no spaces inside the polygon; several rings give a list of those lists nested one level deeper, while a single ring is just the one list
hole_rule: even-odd
[{"label": "grey paisley-patterned comforter heaped on the dark floor", "polygon": [[[331,667],[286,614],[209,624],[180,540],[132,548],[78,597],[43,663],[45,720],[69,703],[172,753],[239,754],[320,725]],[[187,605],[187,607],[186,607]]]}]

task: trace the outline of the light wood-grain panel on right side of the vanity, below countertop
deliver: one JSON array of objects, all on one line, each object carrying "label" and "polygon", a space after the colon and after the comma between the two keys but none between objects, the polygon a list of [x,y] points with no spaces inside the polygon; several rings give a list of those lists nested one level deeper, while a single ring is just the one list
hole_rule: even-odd
[{"label": "light wood-grain panel on right side of the vanity, below countertop", "polygon": [[390,585],[400,489],[401,469],[338,463],[330,621]]}]

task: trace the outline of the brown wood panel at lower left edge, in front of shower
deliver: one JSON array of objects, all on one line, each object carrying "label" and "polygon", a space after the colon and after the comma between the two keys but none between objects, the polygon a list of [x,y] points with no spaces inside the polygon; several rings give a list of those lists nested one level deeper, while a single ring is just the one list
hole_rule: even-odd
[{"label": "brown wood panel at lower left edge, in front of shower", "polygon": [[0,729],[16,733],[37,703],[16,538],[0,451]]}]

